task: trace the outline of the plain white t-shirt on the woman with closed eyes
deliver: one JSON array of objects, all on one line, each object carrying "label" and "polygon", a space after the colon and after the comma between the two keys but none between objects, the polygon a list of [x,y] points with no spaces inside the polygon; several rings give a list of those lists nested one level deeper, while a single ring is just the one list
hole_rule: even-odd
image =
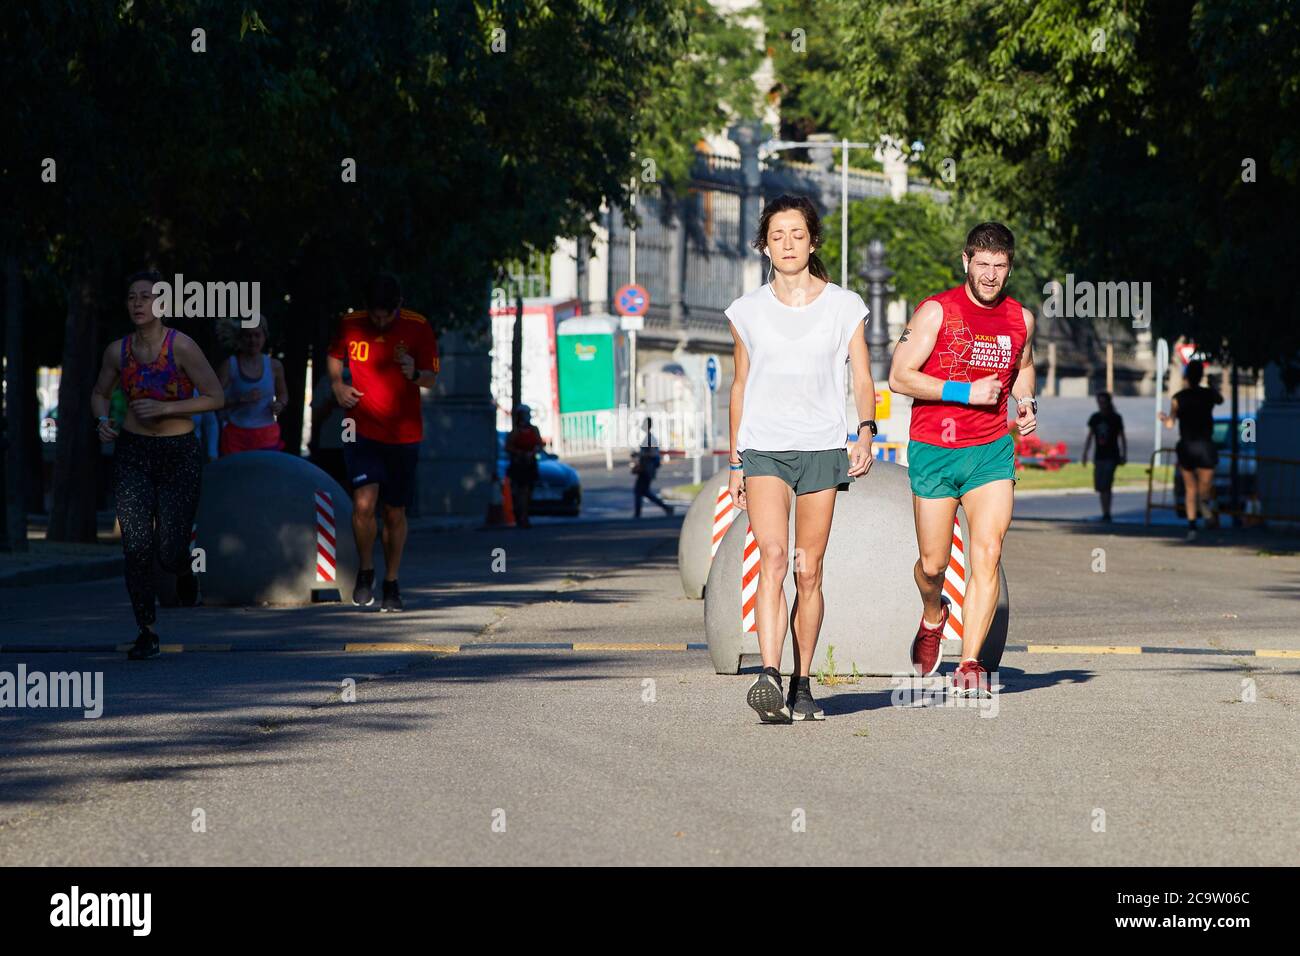
[{"label": "plain white t-shirt on the woman with closed eyes", "polygon": [[842,449],[849,342],[867,317],[862,297],[827,282],[812,302],[793,307],[764,282],[725,315],[749,352],[737,454]]}]

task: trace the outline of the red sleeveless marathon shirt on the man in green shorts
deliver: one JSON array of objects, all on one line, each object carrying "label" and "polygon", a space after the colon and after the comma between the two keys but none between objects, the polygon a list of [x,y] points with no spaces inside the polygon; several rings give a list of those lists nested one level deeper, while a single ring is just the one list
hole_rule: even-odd
[{"label": "red sleeveless marathon shirt on the man in green shorts", "polygon": [[997,441],[1009,433],[1006,397],[1024,347],[1022,306],[1010,297],[993,308],[976,306],[963,285],[931,295],[922,304],[930,300],[944,307],[944,321],[939,326],[935,349],[920,371],[950,381],[975,381],[996,372],[1002,392],[997,405],[958,405],[918,398],[911,406],[911,437],[949,449]]}]

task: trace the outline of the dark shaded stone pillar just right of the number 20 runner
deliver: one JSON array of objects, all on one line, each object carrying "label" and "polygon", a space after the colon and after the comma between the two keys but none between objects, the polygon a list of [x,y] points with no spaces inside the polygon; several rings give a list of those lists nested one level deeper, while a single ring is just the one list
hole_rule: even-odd
[{"label": "dark shaded stone pillar just right of the number 20 runner", "polygon": [[[485,303],[486,311],[486,303]],[[491,397],[491,326],[438,337],[441,372],[422,393],[417,514],[481,522],[497,468],[497,406]]]}]

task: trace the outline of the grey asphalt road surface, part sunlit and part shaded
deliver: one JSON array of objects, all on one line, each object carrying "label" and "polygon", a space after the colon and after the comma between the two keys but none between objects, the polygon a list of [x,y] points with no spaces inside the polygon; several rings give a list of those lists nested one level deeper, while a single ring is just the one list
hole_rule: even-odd
[{"label": "grey asphalt road surface, part sunlit and part shaded", "polygon": [[[1009,641],[1095,650],[1009,653],[996,715],[870,678],[770,727],[749,675],[632,649],[703,640],[676,527],[417,533],[404,615],[162,611],[224,653],[0,649],[105,688],[99,719],[0,710],[0,864],[1296,862],[1300,658],[1252,656],[1300,653],[1294,542],[1020,522]],[[9,589],[0,618],[0,644],[92,644],[129,609],[99,581]],[[424,649],[347,650],[373,641]],[[612,649],[519,646],[555,641]],[[317,650],[252,649],[277,643]]]}]

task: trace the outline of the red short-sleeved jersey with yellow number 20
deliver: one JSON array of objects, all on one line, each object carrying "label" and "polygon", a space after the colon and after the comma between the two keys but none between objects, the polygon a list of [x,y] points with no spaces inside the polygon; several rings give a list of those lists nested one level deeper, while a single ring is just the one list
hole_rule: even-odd
[{"label": "red short-sleeved jersey with yellow number 20", "polygon": [[398,359],[410,352],[419,371],[438,371],[438,338],[419,312],[403,308],[382,332],[368,312],[348,312],[329,354],[347,362],[361,401],[347,414],[356,433],[372,441],[407,444],[424,438],[420,386],[402,375]]}]

